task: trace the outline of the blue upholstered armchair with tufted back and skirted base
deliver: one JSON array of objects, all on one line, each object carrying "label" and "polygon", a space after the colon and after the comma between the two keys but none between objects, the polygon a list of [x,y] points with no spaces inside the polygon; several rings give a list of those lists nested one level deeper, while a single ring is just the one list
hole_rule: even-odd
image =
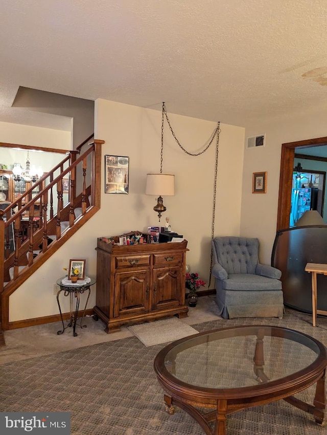
[{"label": "blue upholstered armchair with tufted back and skirted base", "polygon": [[212,248],[223,318],[283,317],[282,272],[259,263],[258,238],[215,237]]}]

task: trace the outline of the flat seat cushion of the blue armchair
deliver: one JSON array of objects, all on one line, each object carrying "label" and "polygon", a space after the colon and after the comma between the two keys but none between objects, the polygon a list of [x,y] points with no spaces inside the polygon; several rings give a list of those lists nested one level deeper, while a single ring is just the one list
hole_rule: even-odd
[{"label": "flat seat cushion of the blue armchair", "polygon": [[282,281],[252,273],[231,273],[222,281],[222,290],[282,290]]}]

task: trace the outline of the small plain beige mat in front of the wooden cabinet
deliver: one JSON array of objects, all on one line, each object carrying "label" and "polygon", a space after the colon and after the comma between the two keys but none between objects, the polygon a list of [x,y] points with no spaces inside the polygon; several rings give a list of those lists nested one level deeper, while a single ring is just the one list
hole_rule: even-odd
[{"label": "small plain beige mat in front of the wooden cabinet", "polygon": [[133,325],[128,329],[147,347],[198,334],[197,330],[177,317]]}]

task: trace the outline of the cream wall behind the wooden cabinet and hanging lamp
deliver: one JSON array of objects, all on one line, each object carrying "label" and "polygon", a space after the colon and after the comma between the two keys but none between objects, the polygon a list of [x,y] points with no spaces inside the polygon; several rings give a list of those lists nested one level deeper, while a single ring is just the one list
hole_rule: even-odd
[{"label": "cream wall behind the wooden cabinet and hanging lamp", "polygon": [[[169,104],[167,104],[169,113]],[[213,133],[216,123],[169,114],[177,138],[189,151],[198,152]],[[85,258],[86,274],[96,276],[97,237],[130,230],[144,231],[158,225],[153,211],[155,198],[145,195],[147,172],[160,169],[161,110],[96,101],[95,137],[102,146],[101,210],[42,265],[10,297],[10,321],[58,314],[53,285],[65,274],[69,258]],[[199,156],[186,155],[165,123],[163,172],[175,173],[175,196],[164,198],[172,230],[189,241],[186,261],[191,271],[208,282],[211,256],[211,222],[215,145]],[[221,124],[217,180],[215,235],[239,235],[243,169],[244,129]],[[104,156],[128,156],[129,193],[104,193]],[[95,305],[95,288],[88,307]],[[214,288],[214,281],[211,284]],[[82,302],[81,302],[82,303]],[[62,302],[69,311],[68,298]]]}]

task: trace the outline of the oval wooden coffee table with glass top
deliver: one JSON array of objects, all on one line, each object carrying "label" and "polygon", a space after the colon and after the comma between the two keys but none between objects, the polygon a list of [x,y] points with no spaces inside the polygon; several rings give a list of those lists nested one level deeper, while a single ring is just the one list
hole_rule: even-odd
[{"label": "oval wooden coffee table with glass top", "polygon": [[[226,435],[226,416],[279,399],[323,424],[327,350],[298,331],[251,325],[206,331],[162,349],[154,371],[167,411],[188,412],[207,435]],[[316,384],[313,404],[293,397]],[[211,408],[206,413],[196,407]],[[182,435],[182,434],[178,434]]]}]

